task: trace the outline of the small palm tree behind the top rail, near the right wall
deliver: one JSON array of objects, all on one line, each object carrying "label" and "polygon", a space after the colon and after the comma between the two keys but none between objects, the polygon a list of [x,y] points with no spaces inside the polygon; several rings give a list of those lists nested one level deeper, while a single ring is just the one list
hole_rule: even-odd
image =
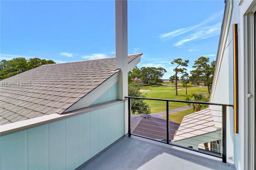
[{"label": "small palm tree behind the top rail, near the right wall", "polygon": [[[209,98],[205,97],[203,94],[192,94],[191,99],[187,98],[186,100],[207,102]],[[196,104],[196,103],[189,103],[188,106],[193,107],[194,111],[196,112],[201,111],[201,109],[208,107],[207,105]]]}]

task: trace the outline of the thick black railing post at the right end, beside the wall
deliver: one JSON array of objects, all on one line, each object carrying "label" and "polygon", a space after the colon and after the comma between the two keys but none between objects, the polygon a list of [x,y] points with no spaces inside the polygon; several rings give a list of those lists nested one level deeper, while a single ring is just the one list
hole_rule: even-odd
[{"label": "thick black railing post at the right end, beside the wall", "polygon": [[227,163],[227,106],[222,106],[222,162]]}]

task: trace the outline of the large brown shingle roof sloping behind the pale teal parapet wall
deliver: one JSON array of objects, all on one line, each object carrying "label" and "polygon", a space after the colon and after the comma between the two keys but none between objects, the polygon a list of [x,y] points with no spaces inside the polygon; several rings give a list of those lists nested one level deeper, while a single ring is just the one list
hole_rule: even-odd
[{"label": "large brown shingle roof sloping behind the pale teal parapet wall", "polygon": [[[128,63],[141,55],[129,55]],[[61,114],[118,71],[113,57],[42,65],[4,79],[0,81],[0,125]]]}]

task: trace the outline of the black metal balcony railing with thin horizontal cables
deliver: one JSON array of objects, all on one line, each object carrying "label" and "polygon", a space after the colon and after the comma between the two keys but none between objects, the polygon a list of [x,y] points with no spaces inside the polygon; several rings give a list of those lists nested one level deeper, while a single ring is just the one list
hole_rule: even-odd
[{"label": "black metal balcony railing with thin horizontal cables", "polygon": [[[143,97],[126,98],[129,137],[135,135],[164,142],[222,158],[222,162],[226,163],[227,107],[233,105]],[[140,100],[144,105],[138,105]]]}]

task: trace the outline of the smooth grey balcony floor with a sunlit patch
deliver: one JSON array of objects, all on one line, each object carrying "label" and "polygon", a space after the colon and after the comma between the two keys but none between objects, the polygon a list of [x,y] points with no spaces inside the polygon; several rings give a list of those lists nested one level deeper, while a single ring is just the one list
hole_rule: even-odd
[{"label": "smooth grey balcony floor with a sunlit patch", "polygon": [[221,159],[165,143],[125,136],[79,169],[235,169]]}]

